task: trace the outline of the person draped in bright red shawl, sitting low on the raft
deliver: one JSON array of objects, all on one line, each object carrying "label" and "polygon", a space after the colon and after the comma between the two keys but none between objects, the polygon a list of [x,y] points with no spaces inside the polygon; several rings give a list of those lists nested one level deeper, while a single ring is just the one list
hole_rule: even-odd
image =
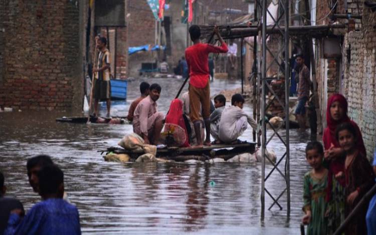
[{"label": "person draped in bright red shawl, sitting low on the raft", "polygon": [[190,143],[188,132],[186,130],[183,118],[183,102],[178,98],[171,101],[170,108],[165,118],[164,132],[172,129],[168,124],[178,125],[182,130],[184,130],[183,134],[185,135],[185,141],[184,143],[179,144],[179,147],[189,147]]}]

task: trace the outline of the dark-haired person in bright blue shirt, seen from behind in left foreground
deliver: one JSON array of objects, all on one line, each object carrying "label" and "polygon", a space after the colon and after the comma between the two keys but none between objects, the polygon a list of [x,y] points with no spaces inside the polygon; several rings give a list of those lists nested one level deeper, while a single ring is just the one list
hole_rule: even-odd
[{"label": "dark-haired person in bright blue shirt, seen from behind in left foreground", "polygon": [[20,209],[12,210],[4,234],[81,234],[78,209],[63,199],[63,171],[47,165],[38,172],[38,179],[42,201],[24,219]]}]

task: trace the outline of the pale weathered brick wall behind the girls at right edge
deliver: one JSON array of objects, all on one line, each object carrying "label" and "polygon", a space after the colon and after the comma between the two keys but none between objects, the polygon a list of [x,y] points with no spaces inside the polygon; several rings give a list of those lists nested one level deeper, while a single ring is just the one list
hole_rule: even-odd
[{"label": "pale weathered brick wall behind the girls at right edge", "polygon": [[[375,25],[375,13],[364,11],[364,17],[373,15],[373,21],[369,23]],[[351,46],[351,59],[346,60],[343,92],[348,100],[348,115],[359,125],[367,156],[371,158],[376,145],[376,48],[368,43],[369,40],[376,41],[375,29],[352,31],[346,35],[344,47]],[[345,53],[344,50],[343,57]]]}]

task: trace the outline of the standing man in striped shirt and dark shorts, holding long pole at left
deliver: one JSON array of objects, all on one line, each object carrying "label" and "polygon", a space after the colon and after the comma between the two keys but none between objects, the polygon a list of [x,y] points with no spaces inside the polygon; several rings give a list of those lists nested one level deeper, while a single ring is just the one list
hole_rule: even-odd
[{"label": "standing man in striped shirt and dark shorts, holding long pole at left", "polygon": [[95,76],[95,88],[94,88],[94,115],[98,114],[98,102],[99,100],[106,100],[107,114],[106,117],[111,117],[111,84],[110,84],[110,51],[106,47],[107,39],[100,37],[98,40],[98,66],[93,69],[93,72],[97,72]]}]

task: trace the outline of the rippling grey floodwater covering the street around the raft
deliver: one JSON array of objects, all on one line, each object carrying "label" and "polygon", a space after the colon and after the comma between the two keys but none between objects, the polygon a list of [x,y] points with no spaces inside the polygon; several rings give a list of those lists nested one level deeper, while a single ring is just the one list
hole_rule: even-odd
[{"label": "rippling grey floodwater covering the street around the raft", "polygon": [[[182,80],[148,79],[162,87],[158,110],[166,113]],[[129,82],[128,100],[113,102],[113,115],[126,115],[139,95],[140,80]],[[236,88],[240,81],[216,80],[212,95]],[[251,104],[245,104],[247,112]],[[101,109],[105,114],[105,106]],[[116,146],[131,132],[131,125],[55,122],[56,117],[83,113],[22,111],[0,113],[0,170],[6,176],[8,195],[29,209],[40,197],[26,174],[26,160],[50,154],[65,173],[69,200],[80,212],[84,233],[128,234],[299,234],[302,216],[303,175],[308,170],[304,147],[309,132],[290,131],[291,216],[286,216],[286,194],[261,217],[261,164],[248,163],[119,163],[106,162],[98,150]],[[268,131],[270,136],[271,132]],[[281,133],[282,136],[284,135]],[[249,128],[241,137],[252,140]],[[277,157],[284,147],[275,136],[269,143]],[[280,164],[284,168],[284,160]],[[267,169],[271,169],[268,165]],[[277,197],[284,188],[277,171],[266,188]]]}]

